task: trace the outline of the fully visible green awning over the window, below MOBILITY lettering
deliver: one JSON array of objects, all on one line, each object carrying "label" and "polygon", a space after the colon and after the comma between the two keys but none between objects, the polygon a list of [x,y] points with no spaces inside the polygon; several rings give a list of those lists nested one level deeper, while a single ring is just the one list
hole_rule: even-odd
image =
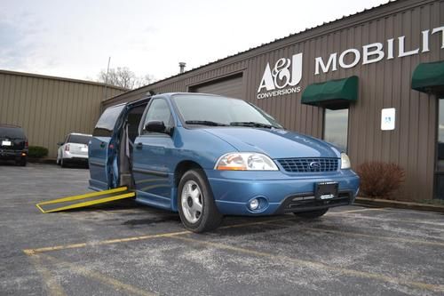
[{"label": "fully visible green awning over the window, below MOBILITY lettering", "polygon": [[310,84],[302,93],[302,103],[331,109],[347,108],[358,100],[358,76]]}]

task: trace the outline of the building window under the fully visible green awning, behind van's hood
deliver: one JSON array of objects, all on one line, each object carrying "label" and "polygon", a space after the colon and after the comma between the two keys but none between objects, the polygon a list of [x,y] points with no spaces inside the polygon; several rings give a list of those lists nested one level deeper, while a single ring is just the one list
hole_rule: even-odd
[{"label": "building window under the fully visible green awning, behind van's hood", "polygon": [[347,151],[348,108],[338,110],[324,108],[323,140],[332,143],[342,151]]}]

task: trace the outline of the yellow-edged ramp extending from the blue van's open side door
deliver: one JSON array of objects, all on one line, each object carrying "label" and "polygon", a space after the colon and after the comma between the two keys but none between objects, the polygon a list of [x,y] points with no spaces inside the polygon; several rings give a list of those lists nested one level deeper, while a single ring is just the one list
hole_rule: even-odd
[{"label": "yellow-edged ramp extending from the blue van's open side door", "polygon": [[[87,194],[80,195],[80,196],[67,196],[67,197],[62,197],[62,198],[38,203],[38,204],[36,204],[36,207],[41,212],[44,212],[44,213],[59,212],[59,211],[66,211],[66,210],[70,210],[70,209],[76,209],[76,208],[81,208],[81,207],[85,207],[85,206],[90,206],[93,204],[103,204],[103,203],[107,203],[107,202],[111,202],[111,201],[115,201],[115,200],[119,200],[119,199],[123,199],[123,198],[129,198],[129,197],[136,196],[136,194],[134,192],[125,192],[127,190],[128,190],[128,188],[121,187],[121,188],[114,188],[114,189],[109,189],[109,190],[104,190],[104,191],[99,191],[99,192],[91,192],[91,193],[87,193]],[[122,193],[122,194],[118,194],[118,195],[114,195],[114,196],[107,196],[107,195],[112,195],[115,193]],[[46,205],[46,204],[59,204],[59,203],[73,202],[76,200],[97,197],[97,196],[107,196],[107,197],[94,199],[94,200],[90,200],[90,201],[84,201],[84,202],[81,202],[78,204],[68,204],[68,205],[65,205],[65,206],[62,206],[59,208],[53,208],[50,210],[44,210],[42,208],[42,205]]]}]

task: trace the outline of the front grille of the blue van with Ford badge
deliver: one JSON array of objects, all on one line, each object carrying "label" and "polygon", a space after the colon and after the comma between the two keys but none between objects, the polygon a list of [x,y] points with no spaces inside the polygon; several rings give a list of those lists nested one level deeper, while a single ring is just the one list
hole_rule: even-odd
[{"label": "front grille of the blue van with Ford badge", "polygon": [[277,159],[287,172],[335,172],[339,158],[280,158]]}]

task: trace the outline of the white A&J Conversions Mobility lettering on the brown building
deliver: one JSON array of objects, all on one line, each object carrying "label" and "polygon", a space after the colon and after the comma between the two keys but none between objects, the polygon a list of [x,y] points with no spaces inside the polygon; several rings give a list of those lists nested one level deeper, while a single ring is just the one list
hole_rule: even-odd
[{"label": "white A&J Conversions Mobility lettering on the brown building", "polygon": [[[353,68],[359,63],[367,65],[384,59],[392,60],[430,52],[430,37],[433,35],[440,36],[440,48],[444,49],[444,27],[426,29],[421,32],[419,44],[411,48],[407,48],[406,36],[399,36],[387,39],[384,43],[366,44],[359,49],[332,52],[327,59],[316,57],[314,75],[334,72],[338,68]],[[258,100],[301,92],[301,86],[297,84],[302,79],[302,57],[303,52],[294,54],[291,59],[281,58],[276,61],[273,69],[268,62],[258,87]]]}]

